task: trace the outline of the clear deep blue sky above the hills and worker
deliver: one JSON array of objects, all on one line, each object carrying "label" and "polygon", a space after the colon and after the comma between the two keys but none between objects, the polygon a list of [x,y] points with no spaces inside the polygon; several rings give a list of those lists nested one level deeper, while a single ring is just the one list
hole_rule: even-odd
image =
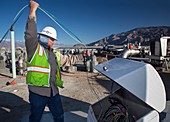
[{"label": "clear deep blue sky above the hills and worker", "polygon": [[[85,44],[111,34],[137,27],[170,26],[170,0],[36,0],[40,7],[53,14]],[[0,39],[10,28],[15,15],[29,0],[1,0]],[[24,41],[29,8],[25,8],[14,25],[15,39]],[[59,43],[74,45],[68,36],[41,10],[37,10],[37,29],[53,26]],[[7,35],[10,38],[10,35]]]}]

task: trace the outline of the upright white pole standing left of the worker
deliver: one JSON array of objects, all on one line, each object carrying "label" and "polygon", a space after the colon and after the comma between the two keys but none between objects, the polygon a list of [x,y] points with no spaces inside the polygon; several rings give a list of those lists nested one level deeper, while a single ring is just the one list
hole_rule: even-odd
[{"label": "upright white pole standing left of the worker", "polygon": [[11,54],[12,54],[12,77],[16,78],[16,64],[15,64],[15,39],[14,39],[14,28],[11,26]]}]

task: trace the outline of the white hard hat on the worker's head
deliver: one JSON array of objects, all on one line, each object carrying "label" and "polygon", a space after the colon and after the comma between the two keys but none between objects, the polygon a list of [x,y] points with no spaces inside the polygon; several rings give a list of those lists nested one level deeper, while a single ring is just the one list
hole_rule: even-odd
[{"label": "white hard hat on the worker's head", "polygon": [[57,32],[53,27],[50,26],[43,28],[38,34],[42,34],[57,40]]}]

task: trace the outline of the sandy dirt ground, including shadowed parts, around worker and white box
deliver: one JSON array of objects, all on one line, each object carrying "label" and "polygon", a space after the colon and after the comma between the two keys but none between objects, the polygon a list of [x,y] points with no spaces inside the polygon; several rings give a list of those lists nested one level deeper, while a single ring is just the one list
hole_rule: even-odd
[{"label": "sandy dirt ground, including shadowed parts, around worker and white box", "polygon": [[[170,120],[170,72],[159,72],[166,89],[167,113]],[[99,73],[62,72],[64,88],[60,89],[65,122],[86,122],[89,106],[109,95],[112,81]],[[16,84],[9,84],[12,81]],[[0,122],[28,122],[29,100],[25,76],[13,79],[8,69],[0,69]],[[53,122],[46,107],[41,122]]]}]

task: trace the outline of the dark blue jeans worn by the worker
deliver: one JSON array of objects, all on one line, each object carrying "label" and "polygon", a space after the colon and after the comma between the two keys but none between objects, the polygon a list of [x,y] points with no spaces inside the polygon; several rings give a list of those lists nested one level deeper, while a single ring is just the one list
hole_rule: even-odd
[{"label": "dark blue jeans worn by the worker", "polygon": [[45,106],[48,105],[54,122],[64,122],[64,112],[59,94],[46,97],[29,91],[31,114],[29,122],[40,122]]}]

